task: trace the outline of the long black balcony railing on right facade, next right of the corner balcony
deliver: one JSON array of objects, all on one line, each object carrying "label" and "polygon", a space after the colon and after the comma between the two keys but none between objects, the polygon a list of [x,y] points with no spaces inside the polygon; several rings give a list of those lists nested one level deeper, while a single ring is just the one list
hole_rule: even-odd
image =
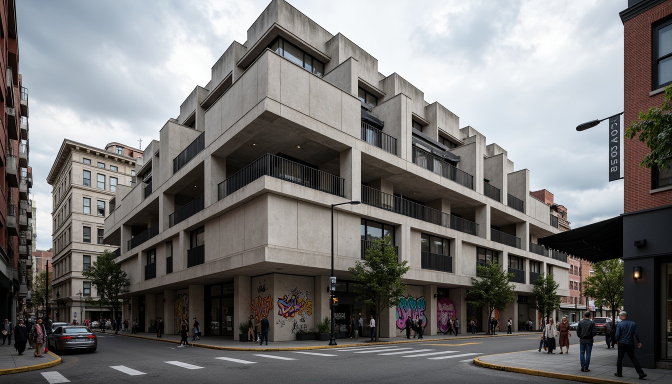
[{"label": "long black balcony railing on right facade, next right of the corner balcony", "polygon": [[443,213],[440,210],[429,208],[398,196],[386,194],[368,186],[362,186],[362,202],[404,216],[478,236],[478,224],[472,221]]}]

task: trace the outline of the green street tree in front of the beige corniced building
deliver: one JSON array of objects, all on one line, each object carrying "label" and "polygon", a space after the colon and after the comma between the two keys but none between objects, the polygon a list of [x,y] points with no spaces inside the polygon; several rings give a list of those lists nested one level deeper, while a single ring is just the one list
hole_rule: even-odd
[{"label": "green street tree in front of the beige corniced building", "polygon": [[[114,262],[114,254],[110,249],[106,249],[102,254],[99,254],[95,262],[91,264],[89,270],[85,270],[82,274],[85,278],[91,279],[91,285],[95,286],[98,296],[104,301],[106,306],[112,309],[112,316],[116,321],[119,311],[122,307],[123,301],[120,295],[127,292],[129,280],[126,272]],[[119,330],[116,330],[116,333]]]}]

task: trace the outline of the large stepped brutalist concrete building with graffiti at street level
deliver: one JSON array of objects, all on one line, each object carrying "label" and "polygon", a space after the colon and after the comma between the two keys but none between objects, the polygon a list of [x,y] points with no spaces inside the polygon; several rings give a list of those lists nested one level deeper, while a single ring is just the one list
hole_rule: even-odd
[{"label": "large stepped brutalist concrete building with graffiti at street level", "polygon": [[251,314],[268,317],[271,340],[314,328],[330,313],[331,204],[351,200],[362,204],[333,219],[339,327],[371,313],[347,268],[384,235],[411,270],[399,307],[378,319],[383,337],[409,315],[429,334],[452,316],[462,332],[472,317],[481,328],[487,315],[465,300],[479,263],[514,274],[516,300],[495,317],[517,325],[537,318],[539,274],[569,295],[566,254],[536,243],[558,217],[530,196],[529,171],[282,0],[224,52],[136,172],[136,186],[117,187],[105,243],[120,245],[130,276],[124,317],[145,330],[198,317],[206,335],[237,335]]}]

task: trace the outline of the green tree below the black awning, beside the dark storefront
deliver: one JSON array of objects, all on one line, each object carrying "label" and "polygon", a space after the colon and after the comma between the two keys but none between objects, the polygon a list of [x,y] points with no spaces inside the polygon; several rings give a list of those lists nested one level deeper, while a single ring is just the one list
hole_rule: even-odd
[{"label": "green tree below the black awning, beside the dark storefront", "polygon": [[583,281],[583,295],[595,299],[595,306],[616,311],[623,307],[623,262],[620,259],[593,264],[594,273]]}]

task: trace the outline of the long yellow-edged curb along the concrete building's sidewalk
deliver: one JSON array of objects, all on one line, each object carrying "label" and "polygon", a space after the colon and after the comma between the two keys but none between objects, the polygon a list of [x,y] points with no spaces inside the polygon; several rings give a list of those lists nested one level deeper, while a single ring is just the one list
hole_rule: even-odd
[{"label": "long yellow-edged curb along the concrete building's sidewalk", "polygon": [[[102,333],[95,331],[97,333]],[[316,349],[329,349],[329,348],[349,348],[355,346],[376,346],[376,345],[391,345],[391,344],[406,344],[406,343],[417,343],[417,342],[444,342],[451,340],[466,340],[466,339],[480,339],[480,338],[499,338],[507,336],[525,336],[527,334],[501,334],[501,335],[480,335],[480,336],[460,336],[456,338],[439,338],[439,339],[428,339],[428,340],[399,340],[392,342],[359,342],[356,344],[341,344],[337,346],[302,346],[302,347],[286,347],[286,348],[244,348],[244,347],[229,347],[229,346],[213,346],[209,344],[189,344],[191,346],[197,346],[200,348],[209,348],[216,350],[233,350],[238,352],[273,352],[273,351],[287,351],[287,350],[316,350]],[[168,339],[159,339],[151,336],[136,336],[134,334],[117,334],[116,336],[125,336],[127,338],[137,338],[143,340],[153,340],[156,342],[167,342],[172,344],[179,344],[178,341],[168,340]]]}]

